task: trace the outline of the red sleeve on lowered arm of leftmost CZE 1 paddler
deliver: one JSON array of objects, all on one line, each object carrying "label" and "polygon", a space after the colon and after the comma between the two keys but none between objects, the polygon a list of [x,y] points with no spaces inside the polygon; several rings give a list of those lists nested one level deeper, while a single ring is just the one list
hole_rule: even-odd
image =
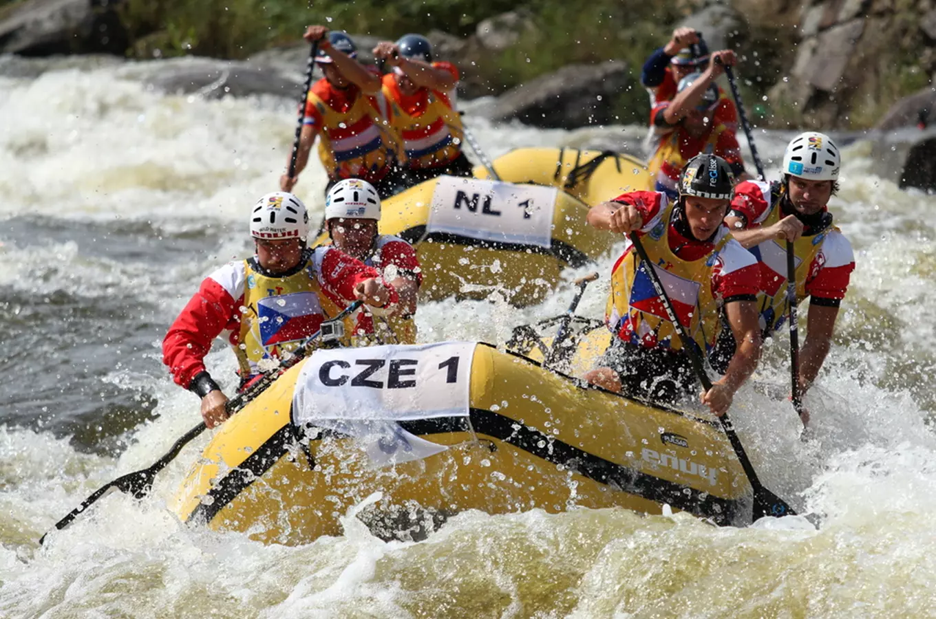
[{"label": "red sleeve on lowered arm of leftmost CZE 1 paddler", "polygon": [[236,305],[236,299],[217,281],[207,278],[201,282],[163,339],[163,363],[177,384],[188,389],[196,374],[205,371],[202,360],[211,350],[212,340],[232,322],[240,321]]}]

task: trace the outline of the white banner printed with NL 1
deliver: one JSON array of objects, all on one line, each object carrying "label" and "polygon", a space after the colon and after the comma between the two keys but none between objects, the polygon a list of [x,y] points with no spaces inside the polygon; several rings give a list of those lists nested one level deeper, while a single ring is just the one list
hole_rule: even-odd
[{"label": "white banner printed with NL 1", "polygon": [[558,195],[555,187],[442,176],[426,231],[548,249]]}]

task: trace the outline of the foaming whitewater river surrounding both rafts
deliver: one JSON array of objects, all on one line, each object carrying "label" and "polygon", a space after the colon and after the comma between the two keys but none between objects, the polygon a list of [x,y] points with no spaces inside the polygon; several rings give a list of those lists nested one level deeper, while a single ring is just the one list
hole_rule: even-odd
[{"label": "foaming whitewater river surrounding both rafts", "polygon": [[[860,143],[831,205],[857,268],[807,400],[813,439],[756,386],[787,380],[785,338],[733,409],[762,481],[808,515],[738,529],[623,510],[468,512],[417,543],[376,540],[347,517],[340,538],[263,546],[167,511],[192,445],[151,497],[106,497],[38,546],[197,424],[159,344],[201,278],[250,251],[245,209],[276,188],[293,135],[293,103],[160,94],[134,78],[132,65],[0,77],[0,616],[936,615],[936,198],[878,179]],[[466,119],[492,158],[639,133]],[[770,175],[787,137],[757,134]],[[295,190],[314,221],[324,183],[316,162]],[[603,313],[613,257],[579,313]],[[571,295],[566,283],[524,310],[496,291],[426,304],[420,339],[503,343]],[[226,347],[207,361],[229,391]]]}]

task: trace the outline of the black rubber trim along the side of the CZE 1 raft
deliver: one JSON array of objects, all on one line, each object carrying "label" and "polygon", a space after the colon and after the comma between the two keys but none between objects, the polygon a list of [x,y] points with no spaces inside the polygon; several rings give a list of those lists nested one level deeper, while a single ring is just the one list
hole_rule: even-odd
[{"label": "black rubber trim along the side of the CZE 1 raft", "polygon": [[[291,417],[291,415],[290,415]],[[538,430],[520,425],[516,420],[484,409],[470,410],[471,425],[463,417],[441,417],[399,422],[407,432],[419,437],[451,432],[469,432],[474,428],[478,438],[490,437],[530,453],[553,465],[562,465],[595,482],[612,486],[637,497],[657,503],[668,503],[682,511],[710,518],[717,525],[730,525],[740,512],[739,501],[713,497],[676,482],[669,482],[647,473],[627,468],[555,439]],[[519,427],[517,427],[519,425]],[[287,440],[295,440],[293,424],[289,422],[271,436],[255,453],[251,453],[238,468],[234,468],[208,492],[210,501],[202,501],[188,517],[188,523],[211,522],[235,497],[267,472],[287,452]],[[342,437],[329,431],[322,437]],[[541,445],[542,443],[542,445]]]}]

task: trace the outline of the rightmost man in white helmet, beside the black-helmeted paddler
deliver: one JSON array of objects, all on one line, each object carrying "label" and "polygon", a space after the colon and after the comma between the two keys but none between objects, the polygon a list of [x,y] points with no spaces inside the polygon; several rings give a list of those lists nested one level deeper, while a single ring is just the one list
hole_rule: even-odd
[{"label": "rightmost man in white helmet, beside the black-helmeted paddler", "polygon": [[806,132],[783,154],[780,182],[738,185],[724,223],[757,258],[764,292],[758,299],[765,336],[787,318],[786,240],[796,255],[797,304],[810,297],[807,334],[799,354],[799,393],[815,381],[831,346],[839,306],[848,290],[855,253],[832,224],[829,198],[839,189],[841,154],[832,138]]}]

